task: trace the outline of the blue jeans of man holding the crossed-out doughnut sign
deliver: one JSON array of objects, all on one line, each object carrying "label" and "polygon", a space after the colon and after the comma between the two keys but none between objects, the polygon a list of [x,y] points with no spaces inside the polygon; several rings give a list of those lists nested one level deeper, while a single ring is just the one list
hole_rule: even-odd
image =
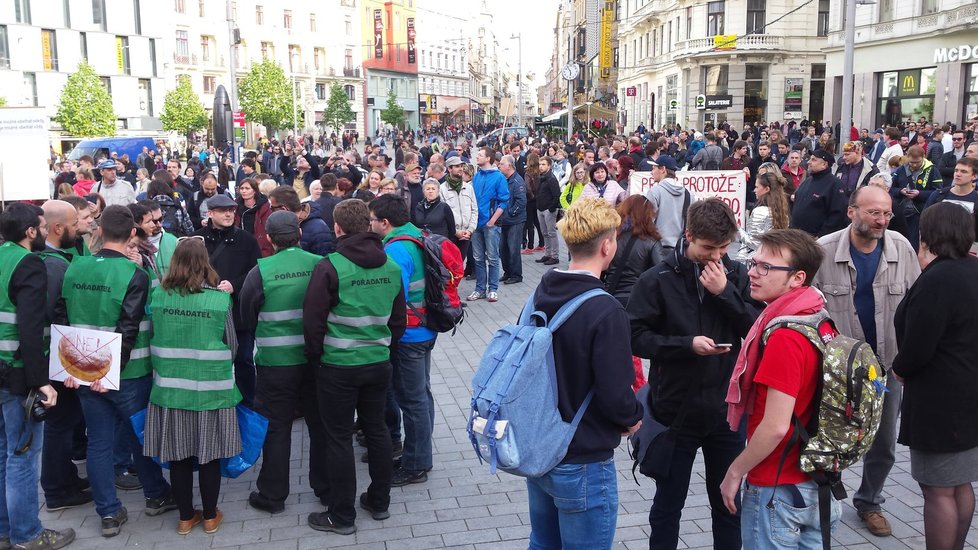
[{"label": "blue jeans of man holding the crossed-out doughnut sign", "polygon": [[[92,484],[95,511],[102,517],[114,514],[122,507],[115,491],[115,468],[112,460],[116,419],[129,422],[129,417],[145,409],[149,404],[152,387],[153,377],[147,375],[121,380],[119,391],[95,393],[88,386],[81,386],[77,390],[85,421],[88,423],[88,480]],[[143,495],[146,498],[168,495],[170,486],[163,479],[160,465],[152,458],[143,456],[142,445],[136,439],[132,426],[123,433],[129,441],[121,443],[137,450],[134,466],[139,481],[143,484]]]}]

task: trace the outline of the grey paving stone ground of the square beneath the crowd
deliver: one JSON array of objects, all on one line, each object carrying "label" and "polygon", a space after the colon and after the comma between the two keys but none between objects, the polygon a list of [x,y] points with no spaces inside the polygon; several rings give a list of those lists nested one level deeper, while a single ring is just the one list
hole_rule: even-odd
[{"label": "grey paving stone ground of the square beneath the crowd", "polygon": [[[140,491],[120,491],[120,498],[129,509],[129,523],[115,538],[101,537],[99,518],[90,505],[57,513],[42,510],[42,522],[49,528],[74,528],[78,538],[71,545],[72,550],[123,547],[154,550],[526,548],[530,525],[525,483],[508,474],[489,475],[488,467],[480,465],[474,457],[465,423],[469,383],[482,350],[499,326],[517,318],[544,272],[541,264],[532,261],[539,257],[540,253],[523,256],[523,283],[501,285],[497,303],[484,300],[470,303],[468,316],[458,333],[454,337],[438,337],[431,367],[431,389],[437,409],[434,470],[427,483],[392,489],[390,519],[374,521],[361,512],[357,518],[359,530],[351,536],[324,534],[306,525],[306,516],[322,511],[322,506],[308,486],[308,439],[304,424],[298,421],[293,428],[292,441],[292,488],[295,493],[289,497],[286,510],[281,514],[271,515],[248,506],[248,494],[255,490],[255,468],[238,479],[224,481],[220,509],[225,519],[215,535],[205,535],[199,528],[186,537],[177,535],[176,512],[157,517],[144,515]],[[561,265],[566,267],[566,257],[564,260]],[[465,281],[460,294],[467,295],[472,287],[473,282]],[[357,452],[359,456],[362,449],[358,448]],[[907,448],[898,448],[897,463],[884,492],[887,500],[883,508],[893,526],[893,536],[877,538],[871,535],[856,516],[851,501],[846,501],[843,522],[833,537],[833,548],[924,548],[923,497],[910,477],[909,455]],[[639,479],[640,486],[635,484],[624,443],[616,452],[616,459],[620,500],[616,548],[647,548],[648,512],[655,484],[647,478]],[[360,491],[364,491],[368,482],[366,464],[357,464]],[[860,473],[860,468],[855,467],[845,476],[850,495],[858,486]],[[703,462],[698,458],[683,510],[679,548],[712,548],[710,529]],[[978,530],[972,529],[968,542],[969,548],[978,546]]]}]

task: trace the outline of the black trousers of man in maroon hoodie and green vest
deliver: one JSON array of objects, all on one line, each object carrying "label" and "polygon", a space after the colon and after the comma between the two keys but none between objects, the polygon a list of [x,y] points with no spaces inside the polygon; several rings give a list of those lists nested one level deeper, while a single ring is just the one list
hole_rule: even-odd
[{"label": "black trousers of man in maroon hoodie and green vest", "polygon": [[330,467],[329,515],[339,525],[350,525],[357,517],[357,471],[353,454],[353,413],[367,439],[367,501],[374,510],[390,506],[393,450],[390,431],[384,422],[391,365],[358,367],[320,366],[316,373],[319,410],[326,428],[326,461]]}]

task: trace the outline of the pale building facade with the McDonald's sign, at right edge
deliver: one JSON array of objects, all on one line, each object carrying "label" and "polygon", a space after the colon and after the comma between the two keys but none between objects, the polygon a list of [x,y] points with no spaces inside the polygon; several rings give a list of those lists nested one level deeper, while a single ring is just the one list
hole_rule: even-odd
[{"label": "pale building facade with the McDonald's sign, at right edge", "polygon": [[[842,112],[845,13],[833,2],[826,104]],[[879,0],[856,5],[853,121],[863,128],[921,118],[959,127],[978,116],[978,4]]]}]

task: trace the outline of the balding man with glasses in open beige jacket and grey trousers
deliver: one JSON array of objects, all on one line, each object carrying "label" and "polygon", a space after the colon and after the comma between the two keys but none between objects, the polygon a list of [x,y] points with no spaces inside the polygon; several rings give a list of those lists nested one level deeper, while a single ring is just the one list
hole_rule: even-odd
[{"label": "balding man with glasses in open beige jacket and grey trousers", "polygon": [[[971,170],[978,161],[959,166],[967,170],[967,184],[974,188]],[[920,267],[910,242],[887,229],[893,207],[885,190],[876,186],[856,189],[849,199],[848,215],[849,227],[819,239],[825,257],[812,286],[822,291],[825,309],[839,331],[866,340],[889,369],[897,352],[894,313],[920,275]],[[878,537],[891,533],[880,505],[886,501],[883,485],[895,460],[903,393],[895,376],[888,376],[886,385],[890,391],[883,402],[879,431],[863,458],[862,483],[852,498],[866,528]]]}]

